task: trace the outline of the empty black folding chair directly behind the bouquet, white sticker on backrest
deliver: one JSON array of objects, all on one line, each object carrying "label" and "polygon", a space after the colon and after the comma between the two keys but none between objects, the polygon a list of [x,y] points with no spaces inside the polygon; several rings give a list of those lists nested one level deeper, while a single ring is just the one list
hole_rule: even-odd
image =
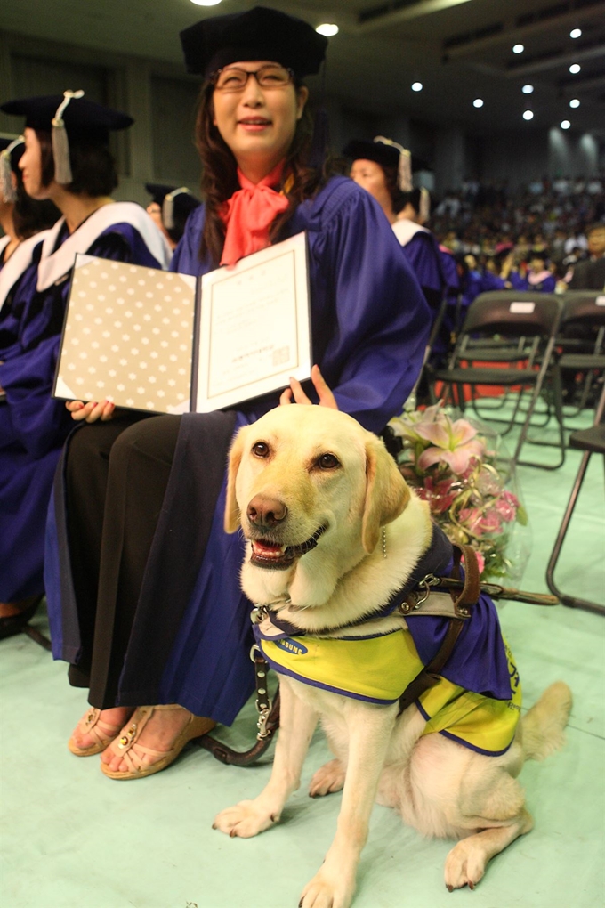
[{"label": "empty black folding chair directly behind the bouquet, white sticker on backrest", "polygon": [[[552,372],[552,385],[561,459],[554,465],[519,459],[536,402],[551,367],[560,316],[561,301],[550,293],[482,293],[469,307],[448,368],[435,370],[431,376],[433,382],[444,382],[444,399],[451,397],[462,410],[464,386],[474,389],[477,386],[497,385],[511,391],[521,388],[516,393],[514,410],[509,420],[509,429],[515,424],[522,427],[512,456],[513,463],[541,469],[558,469],[565,459],[560,373],[556,370]],[[482,361],[483,365],[480,365]],[[492,365],[497,362],[504,363],[503,368]],[[531,390],[531,397],[527,410],[523,412],[521,404],[525,390]],[[519,414],[524,419],[517,421]]]}]

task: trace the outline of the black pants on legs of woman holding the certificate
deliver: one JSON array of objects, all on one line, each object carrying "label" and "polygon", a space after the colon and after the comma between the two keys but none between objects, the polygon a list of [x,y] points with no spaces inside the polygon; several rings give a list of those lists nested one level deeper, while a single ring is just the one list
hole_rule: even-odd
[{"label": "black pants on legs of woman holding the certificate", "polygon": [[74,433],[67,531],[82,656],[73,686],[115,706],[142,577],[168,485],[181,417],[129,414]]}]

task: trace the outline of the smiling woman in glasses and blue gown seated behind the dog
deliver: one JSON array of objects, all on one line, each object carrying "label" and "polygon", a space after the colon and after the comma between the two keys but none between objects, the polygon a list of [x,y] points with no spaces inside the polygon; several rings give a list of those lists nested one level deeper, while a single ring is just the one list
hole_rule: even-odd
[{"label": "smiling woman in glasses and blue gown seated behind the dog", "polygon": [[[317,72],[326,39],[256,7],[206,19],[181,41],[189,71],[206,79],[205,203],[171,267],[200,275],[306,231],[313,356],[334,389],[315,369],[319,402],[382,429],[415,383],[428,311],[376,202],[309,162],[300,80]],[[55,487],[47,595],[54,655],[93,706],[70,749],[102,751],[105,775],[159,771],[191,738],[230,724],[251,693],[243,545],[222,528],[225,465],[233,432],[278,402],[123,430],[112,403],[69,404],[93,424],[73,434]]]}]

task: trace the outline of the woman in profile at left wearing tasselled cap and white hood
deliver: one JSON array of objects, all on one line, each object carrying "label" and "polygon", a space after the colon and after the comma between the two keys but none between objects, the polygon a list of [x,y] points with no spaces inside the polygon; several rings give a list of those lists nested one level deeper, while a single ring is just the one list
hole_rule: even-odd
[{"label": "woman in profile at left wearing tasselled cap and white hood", "polygon": [[[63,441],[73,428],[51,391],[74,256],[88,252],[153,268],[167,266],[170,257],[144,209],[111,198],[117,178],[109,131],[130,126],[132,118],[81,94],[2,105],[6,114],[25,117],[19,162],[25,191],[54,202],[63,214],[36,246],[14,293],[18,324],[11,349],[0,357],[0,602],[17,603],[17,612],[44,593],[46,511]],[[9,629],[19,629],[17,619]]]}]

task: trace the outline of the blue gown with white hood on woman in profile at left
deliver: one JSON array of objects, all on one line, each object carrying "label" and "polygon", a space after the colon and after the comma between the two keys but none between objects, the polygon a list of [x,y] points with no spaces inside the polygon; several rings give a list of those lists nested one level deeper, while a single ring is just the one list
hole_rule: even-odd
[{"label": "blue gown with white hood on woman in profile at left", "polygon": [[[63,219],[44,232],[12,290],[14,314],[0,321],[5,343],[0,386],[6,392],[0,404],[0,601],[44,592],[46,511],[63,441],[73,429],[64,401],[51,397],[73,255],[88,252],[151,268],[169,261],[161,233],[139,205],[122,202],[104,208],[101,218],[94,212],[71,236]],[[151,231],[143,219],[151,223]],[[68,240],[75,252],[62,256]],[[43,264],[47,280],[41,287]]]}]

